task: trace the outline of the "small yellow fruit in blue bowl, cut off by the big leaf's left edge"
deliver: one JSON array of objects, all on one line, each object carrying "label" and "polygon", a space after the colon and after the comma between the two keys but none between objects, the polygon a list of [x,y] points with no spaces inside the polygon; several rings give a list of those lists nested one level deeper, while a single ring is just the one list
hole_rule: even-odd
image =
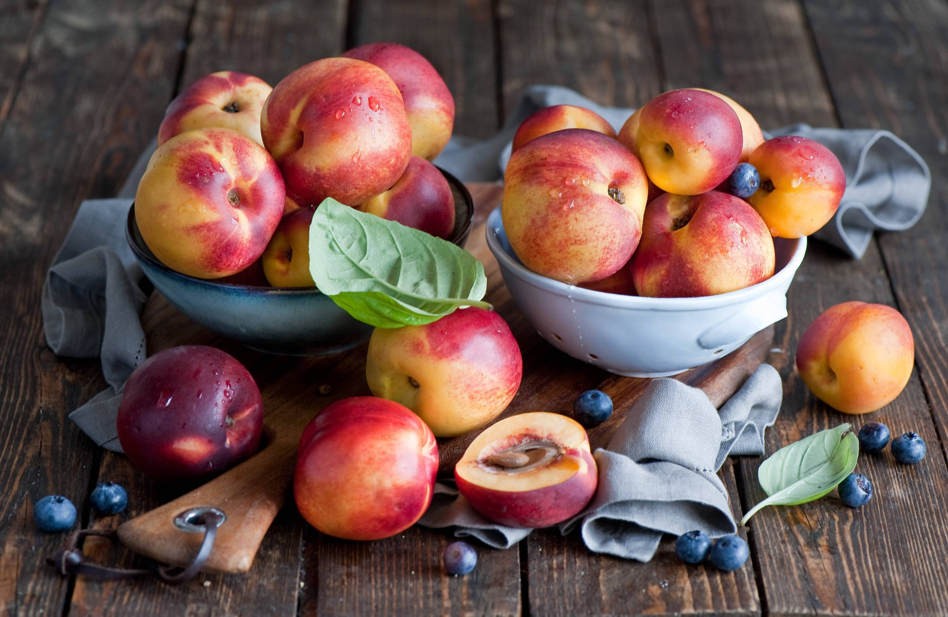
[{"label": "small yellow fruit in blue bowl, cut off by the big leaf's left edge", "polygon": [[261,260],[264,275],[272,287],[314,287],[309,273],[309,226],[316,206],[310,205],[283,215]]}]

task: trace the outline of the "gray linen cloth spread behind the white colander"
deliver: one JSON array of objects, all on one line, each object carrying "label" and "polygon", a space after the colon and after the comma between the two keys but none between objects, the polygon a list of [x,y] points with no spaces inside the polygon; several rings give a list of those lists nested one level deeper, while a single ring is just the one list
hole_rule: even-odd
[{"label": "gray linen cloth spread behind the white colander", "polygon": [[[435,164],[465,181],[501,180],[510,158],[510,143],[525,117],[551,105],[578,105],[622,128],[634,110],[603,107],[562,86],[535,85],[524,90],[520,103],[503,128],[483,141],[452,139]],[[833,151],[846,171],[846,194],[835,216],[813,234],[859,259],[875,230],[903,231],[925,211],[931,173],[918,152],[888,131],[872,129],[814,129],[806,124],[765,132],[800,135]]]}]

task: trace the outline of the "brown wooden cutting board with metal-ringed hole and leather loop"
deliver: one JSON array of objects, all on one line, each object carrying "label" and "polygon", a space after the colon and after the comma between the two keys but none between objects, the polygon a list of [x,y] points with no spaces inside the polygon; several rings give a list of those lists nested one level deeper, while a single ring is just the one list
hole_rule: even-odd
[{"label": "brown wooden cutting board with metal-ringed hole and leather loop", "polygon": [[[476,204],[474,228],[466,248],[483,262],[487,274],[485,299],[510,325],[520,344],[524,374],[520,392],[501,417],[545,411],[570,414],[574,398],[597,388],[612,397],[611,418],[589,432],[593,449],[604,446],[649,379],[624,378],[574,360],[543,341],[517,309],[487,250],[484,220],[501,199],[501,185],[469,185]],[[142,316],[149,354],[179,344],[210,344],[244,362],[264,397],[264,448],[173,502],[156,508],[118,528],[130,549],[174,565],[191,561],[202,535],[179,531],[174,518],[193,507],[210,505],[227,513],[204,570],[246,572],[270,523],[283,507],[293,476],[296,450],[303,427],[329,403],[342,397],[370,395],[365,381],[363,344],[323,358],[290,358],[262,354],[220,337],[173,309],[153,294]],[[766,357],[774,338],[773,326],[759,332],[734,353],[712,364],[676,377],[701,388],[716,406],[727,400]],[[479,431],[439,440],[440,474],[454,464]]]}]

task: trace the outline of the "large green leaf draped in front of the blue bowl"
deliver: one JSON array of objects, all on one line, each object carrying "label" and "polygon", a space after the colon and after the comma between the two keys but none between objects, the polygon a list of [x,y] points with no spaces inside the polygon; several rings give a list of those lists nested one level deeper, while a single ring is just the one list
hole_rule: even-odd
[{"label": "large green leaf draped in front of the blue bowl", "polygon": [[460,307],[490,309],[483,264],[461,247],[329,198],[309,227],[313,281],[357,320],[422,326]]}]

